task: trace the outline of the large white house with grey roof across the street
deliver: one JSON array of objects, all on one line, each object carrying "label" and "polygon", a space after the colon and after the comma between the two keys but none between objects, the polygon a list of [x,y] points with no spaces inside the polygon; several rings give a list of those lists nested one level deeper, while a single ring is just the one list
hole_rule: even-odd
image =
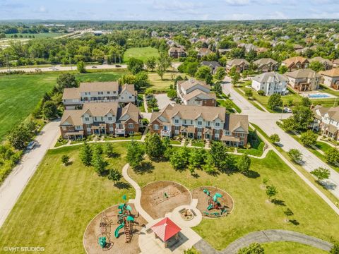
[{"label": "large white house with grey roof across the street", "polygon": [[252,78],[252,88],[262,90],[265,95],[285,95],[287,92],[288,78],[277,72],[262,73]]}]

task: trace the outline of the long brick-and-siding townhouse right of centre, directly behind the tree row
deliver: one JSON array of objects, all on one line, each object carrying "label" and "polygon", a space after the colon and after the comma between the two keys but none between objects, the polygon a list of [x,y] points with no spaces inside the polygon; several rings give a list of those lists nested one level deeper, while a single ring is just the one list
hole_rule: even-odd
[{"label": "long brick-and-siding townhouse right of centre, directly behind the tree row", "polygon": [[153,112],[150,133],[162,137],[184,136],[203,140],[221,140],[229,146],[244,146],[249,134],[248,116],[226,114],[225,107],[168,104]]}]

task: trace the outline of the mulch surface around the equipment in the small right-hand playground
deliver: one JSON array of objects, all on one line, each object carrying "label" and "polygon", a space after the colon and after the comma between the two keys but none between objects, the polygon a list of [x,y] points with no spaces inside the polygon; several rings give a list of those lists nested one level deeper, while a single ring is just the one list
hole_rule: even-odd
[{"label": "mulch surface around the equipment in the small right-hand playground", "polygon": [[[192,198],[194,199],[198,199],[198,205],[197,208],[198,210],[201,212],[201,214],[203,214],[203,217],[208,217],[206,216],[206,214],[204,214],[203,212],[220,212],[218,210],[207,210],[208,207],[208,199],[210,197],[208,197],[208,195],[206,195],[206,193],[203,193],[203,190],[206,189],[210,192],[210,197],[213,197],[213,195],[215,195],[215,193],[220,193],[222,195],[222,198],[218,198],[218,201],[220,202],[220,204],[222,206],[226,206],[227,212],[231,212],[233,209],[233,200],[231,198],[231,196],[226,193],[225,191],[222,191],[219,188],[215,188],[213,186],[201,186],[198,188],[195,188],[194,190],[191,191],[191,195]],[[226,214],[222,214],[222,216],[226,216]]]}]

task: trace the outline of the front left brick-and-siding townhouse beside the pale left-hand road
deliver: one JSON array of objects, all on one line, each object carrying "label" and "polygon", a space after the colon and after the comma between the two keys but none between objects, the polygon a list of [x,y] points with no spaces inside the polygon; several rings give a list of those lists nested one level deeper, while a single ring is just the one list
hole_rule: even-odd
[{"label": "front left brick-and-siding townhouse beside the pale left-hand road", "polygon": [[85,102],[82,109],[66,109],[60,121],[61,136],[76,140],[87,135],[131,135],[137,133],[142,116],[134,104]]}]

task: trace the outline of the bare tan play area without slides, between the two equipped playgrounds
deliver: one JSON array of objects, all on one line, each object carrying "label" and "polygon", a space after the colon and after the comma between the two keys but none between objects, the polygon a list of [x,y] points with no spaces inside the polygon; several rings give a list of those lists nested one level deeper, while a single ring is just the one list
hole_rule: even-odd
[{"label": "bare tan play area without slides, between the two equipped playgrounds", "polygon": [[174,208],[191,203],[191,193],[179,183],[157,181],[142,188],[141,206],[153,219],[165,217]]}]

